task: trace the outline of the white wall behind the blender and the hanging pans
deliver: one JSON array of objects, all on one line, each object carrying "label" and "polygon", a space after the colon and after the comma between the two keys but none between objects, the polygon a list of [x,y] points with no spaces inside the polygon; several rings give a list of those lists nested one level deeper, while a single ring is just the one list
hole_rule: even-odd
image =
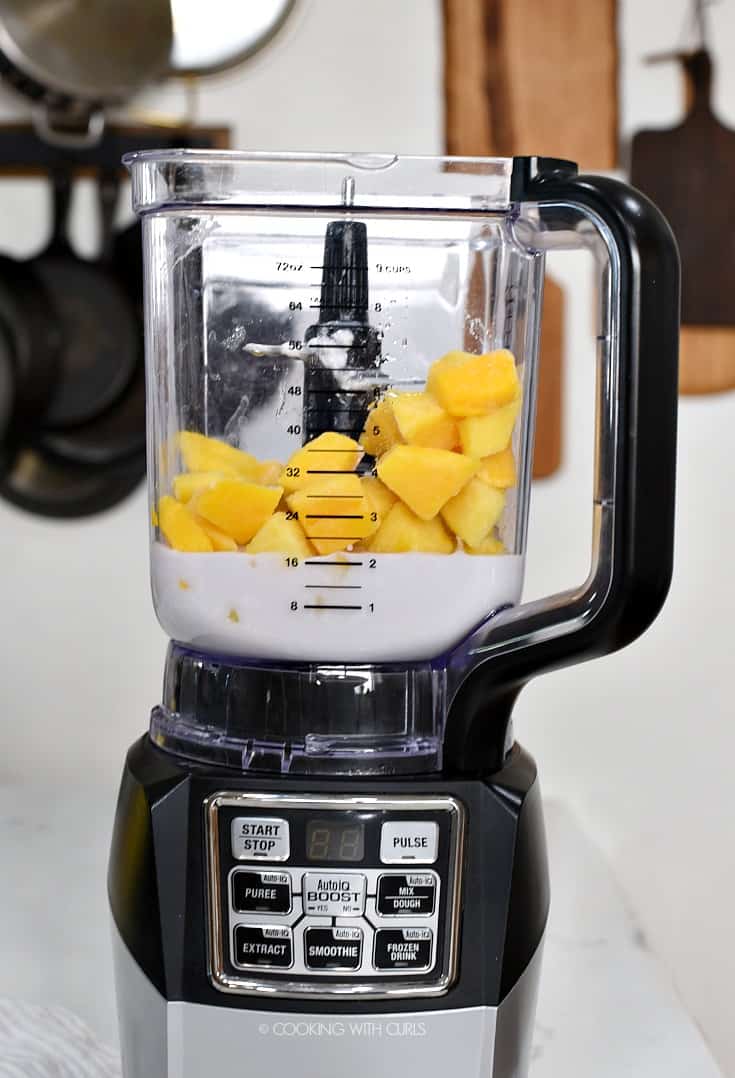
[{"label": "white wall behind the blender and the hanging pans", "polygon": [[[711,18],[717,107],[735,126],[735,0],[724,0]],[[678,72],[646,67],[642,57],[685,44],[684,19],[683,0],[623,0],[625,133],[680,115]],[[349,47],[335,38],[336,27]],[[183,109],[178,87],[147,100]],[[19,111],[9,96],[0,107],[8,115]],[[438,152],[439,4],[303,0],[265,54],[238,75],[206,84],[199,115],[232,124],[242,148]],[[2,192],[0,246],[39,246],[47,221],[39,184],[3,181]],[[80,241],[88,249],[85,208],[88,192],[78,205]],[[731,226],[732,207],[721,212],[723,227]],[[567,448],[558,476],[533,492],[529,595],[580,579],[590,534],[592,300],[577,263],[560,265],[558,276],[570,286]],[[729,1075],[734,419],[733,395],[682,401],[676,577],[654,627],[626,652],[540,679],[517,707],[517,729],[539,760],[546,794],[568,801],[609,857],[650,945]],[[125,747],[157,699],[165,648],[149,600],[145,521],[142,489],[101,517],[72,524],[44,523],[0,503],[3,784],[22,788],[31,769],[70,784],[93,772],[99,796],[114,798]]]}]

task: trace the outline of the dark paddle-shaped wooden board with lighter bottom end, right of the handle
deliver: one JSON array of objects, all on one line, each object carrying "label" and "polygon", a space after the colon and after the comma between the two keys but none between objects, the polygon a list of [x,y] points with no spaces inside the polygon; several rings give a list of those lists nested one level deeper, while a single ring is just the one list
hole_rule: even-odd
[{"label": "dark paddle-shaped wooden board with lighter bottom end, right of the handle", "polygon": [[735,130],[711,108],[712,64],[677,55],[689,111],[679,126],[639,132],[630,179],[668,218],[682,264],[682,392],[735,387]]}]

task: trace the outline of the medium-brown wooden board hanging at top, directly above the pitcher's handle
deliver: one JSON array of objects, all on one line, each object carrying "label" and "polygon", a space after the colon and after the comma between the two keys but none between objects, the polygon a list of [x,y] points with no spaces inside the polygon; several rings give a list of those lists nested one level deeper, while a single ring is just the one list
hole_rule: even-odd
[{"label": "medium-brown wooden board hanging at top, directly above the pitcher's handle", "polygon": [[447,149],[618,157],[615,0],[443,0]]}]

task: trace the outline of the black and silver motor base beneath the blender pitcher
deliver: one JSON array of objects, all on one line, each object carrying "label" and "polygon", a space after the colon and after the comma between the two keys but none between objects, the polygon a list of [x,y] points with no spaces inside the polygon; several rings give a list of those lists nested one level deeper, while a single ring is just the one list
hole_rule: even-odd
[{"label": "black and silver motor base beneath the blender pitcher", "polygon": [[[233,815],[256,813],[252,806],[260,802],[271,806],[260,817]],[[334,859],[304,861],[302,825],[314,816],[304,806],[346,803],[371,806],[356,863],[339,866],[337,873]],[[452,838],[442,830],[446,820],[438,825],[431,867],[432,855],[406,866],[384,853],[386,824],[379,819],[390,820],[392,813],[393,833],[396,817],[406,821],[410,805],[419,806],[414,821],[420,827],[429,820],[426,806],[439,816],[443,810],[435,806],[446,804],[457,806],[463,826]],[[211,833],[217,813],[219,845]],[[252,857],[235,846],[236,825],[275,815],[290,819],[290,848],[271,855],[275,865],[245,863]],[[319,824],[324,815],[316,813]],[[378,843],[380,863],[373,867]],[[231,844],[234,861],[227,860]],[[307,871],[296,867],[303,863]],[[310,909],[311,871],[321,879],[364,877],[361,914],[332,917]],[[281,917],[288,929],[271,927],[277,913],[233,914],[238,873],[269,887],[291,879],[292,906]],[[431,929],[416,928],[418,914],[391,920],[379,908],[379,880],[396,883],[396,876],[417,884],[417,894],[430,883],[431,912],[425,911],[424,923]],[[232,1074],[245,1067],[254,1076],[293,1070],[299,1078],[374,1078],[376,1070],[405,1078],[448,1069],[461,1078],[526,1078],[549,880],[536,765],[518,746],[499,772],[482,778],[285,779],[183,761],[145,736],[131,747],[123,775],[109,896],[124,1078],[208,1078],[218,1067]],[[250,923],[245,927],[251,937],[261,932],[261,949],[268,939],[280,946],[290,935],[288,965],[255,968],[239,958],[238,920]],[[406,920],[410,926],[401,928]],[[335,942],[348,945],[357,925],[360,971],[325,973],[309,966],[309,931],[322,942],[331,931]],[[425,971],[406,976],[380,965],[378,938],[396,940],[401,932],[408,941],[433,934],[432,944],[402,944],[428,948]],[[360,997],[365,991],[374,995]]]}]

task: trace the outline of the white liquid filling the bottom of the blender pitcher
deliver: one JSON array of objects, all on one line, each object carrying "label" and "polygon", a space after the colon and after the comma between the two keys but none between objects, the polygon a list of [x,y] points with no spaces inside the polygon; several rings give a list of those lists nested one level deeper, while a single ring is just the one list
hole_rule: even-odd
[{"label": "white liquid filling the bottom of the blender pitcher", "polygon": [[152,549],[158,619],[175,640],[271,661],[415,662],[455,647],[516,604],[516,554],[281,554]]}]

